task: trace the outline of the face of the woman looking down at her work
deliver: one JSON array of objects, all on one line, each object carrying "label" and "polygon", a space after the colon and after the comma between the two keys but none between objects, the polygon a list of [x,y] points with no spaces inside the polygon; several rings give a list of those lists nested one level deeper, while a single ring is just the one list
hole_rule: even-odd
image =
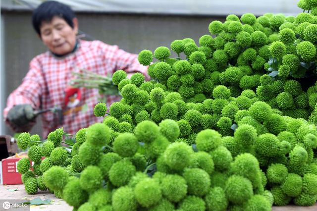
[{"label": "face of the woman looking down at her work", "polygon": [[77,18],[73,19],[74,28],[58,16],[54,16],[51,22],[43,22],[40,27],[41,39],[51,52],[63,55],[70,53],[76,44],[78,32]]}]

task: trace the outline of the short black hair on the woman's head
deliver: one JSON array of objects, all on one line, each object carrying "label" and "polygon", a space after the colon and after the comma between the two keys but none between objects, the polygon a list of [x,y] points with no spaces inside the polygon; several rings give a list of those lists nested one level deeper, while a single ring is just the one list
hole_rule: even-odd
[{"label": "short black hair on the woman's head", "polygon": [[66,4],[49,0],[41,3],[32,14],[32,25],[39,35],[43,21],[51,22],[54,16],[63,18],[67,24],[74,28],[73,18],[76,17],[74,11]]}]

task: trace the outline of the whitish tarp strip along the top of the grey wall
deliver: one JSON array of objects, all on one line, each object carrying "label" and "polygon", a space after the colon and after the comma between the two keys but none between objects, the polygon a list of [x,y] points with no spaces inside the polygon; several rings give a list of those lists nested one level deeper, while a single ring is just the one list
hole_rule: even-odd
[{"label": "whitish tarp strip along the top of the grey wall", "polygon": [[[295,15],[298,0],[58,0],[75,11],[182,15],[241,15],[266,12]],[[1,8],[29,9],[43,0],[1,0]]]}]

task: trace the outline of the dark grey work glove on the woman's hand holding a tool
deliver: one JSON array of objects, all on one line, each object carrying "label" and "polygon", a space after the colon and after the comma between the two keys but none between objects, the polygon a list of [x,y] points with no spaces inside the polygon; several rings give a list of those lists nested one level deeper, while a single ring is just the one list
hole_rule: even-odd
[{"label": "dark grey work glove on the woman's hand holding a tool", "polygon": [[14,126],[21,127],[34,121],[34,110],[30,104],[16,105],[9,110],[7,119]]}]

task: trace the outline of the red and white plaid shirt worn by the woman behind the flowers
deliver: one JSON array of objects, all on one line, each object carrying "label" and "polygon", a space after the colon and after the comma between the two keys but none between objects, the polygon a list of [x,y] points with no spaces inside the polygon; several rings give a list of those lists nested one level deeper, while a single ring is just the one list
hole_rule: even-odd
[{"label": "red and white plaid shirt worn by the woman behind the flowers", "polygon": [[[65,89],[69,87],[73,71],[87,69],[100,75],[111,74],[123,69],[129,72],[141,72],[147,76],[147,67],[138,62],[137,55],[120,50],[117,46],[110,46],[101,41],[79,40],[78,48],[66,57],[58,58],[50,52],[42,53],[30,62],[30,69],[22,84],[14,90],[7,99],[3,111],[4,119],[15,105],[31,104],[35,110],[48,109],[54,106],[67,110],[64,106]],[[52,112],[42,114],[43,138],[58,127],[75,134],[79,129],[102,122],[102,117],[93,113],[94,106],[99,103],[98,89],[79,88],[81,100],[78,106],[87,105],[88,109],[80,109],[64,114],[63,124],[59,125],[56,115]],[[107,96],[109,107],[113,102],[120,100],[119,96]],[[6,121],[8,123],[8,121]]]}]

